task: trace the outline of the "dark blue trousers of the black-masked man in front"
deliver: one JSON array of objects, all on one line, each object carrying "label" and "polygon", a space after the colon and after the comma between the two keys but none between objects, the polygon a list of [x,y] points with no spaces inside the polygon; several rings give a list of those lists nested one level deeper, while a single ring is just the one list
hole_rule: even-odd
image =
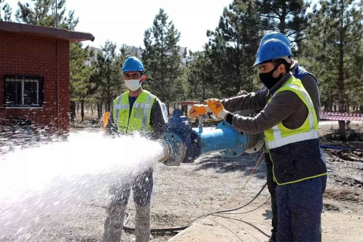
[{"label": "dark blue trousers of the black-masked man in front", "polygon": [[318,242],[327,176],[277,185],[277,242]]}]

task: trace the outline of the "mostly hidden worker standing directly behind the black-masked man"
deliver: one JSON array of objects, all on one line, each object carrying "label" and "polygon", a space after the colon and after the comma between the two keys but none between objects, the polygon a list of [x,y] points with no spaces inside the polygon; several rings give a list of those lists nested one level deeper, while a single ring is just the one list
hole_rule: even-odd
[{"label": "mostly hidden worker standing directly behind the black-masked man", "polygon": [[[270,39],[281,40],[288,47],[290,47],[290,45],[291,45],[290,40],[284,34],[282,34],[280,32],[276,32],[276,31],[266,34],[261,39],[260,45],[264,41],[270,40]],[[315,113],[317,115],[318,122],[319,122],[320,96],[319,96],[319,88],[318,88],[318,79],[313,74],[311,74],[310,72],[308,72],[307,70],[305,70],[304,68],[299,66],[299,62],[297,60],[293,60],[293,59],[291,59],[290,72],[293,74],[293,76],[295,78],[301,80],[302,85],[304,86],[304,88],[306,89],[307,93],[309,94],[309,96],[311,98],[311,101],[313,101]],[[262,89],[266,89],[265,84],[262,86]],[[245,91],[241,90],[237,94],[237,96],[244,95],[244,94],[245,94]],[[275,242],[276,233],[277,233],[277,205],[276,205],[275,189],[276,189],[277,184],[273,179],[273,171],[272,171],[273,164],[272,164],[272,161],[270,160],[270,156],[268,153],[265,154],[265,164],[266,164],[266,172],[267,172],[267,187],[271,194],[271,208],[272,208],[272,230],[271,230],[272,235],[271,235],[271,238],[269,239],[269,242]],[[321,234],[320,234],[320,237],[321,237]]]}]

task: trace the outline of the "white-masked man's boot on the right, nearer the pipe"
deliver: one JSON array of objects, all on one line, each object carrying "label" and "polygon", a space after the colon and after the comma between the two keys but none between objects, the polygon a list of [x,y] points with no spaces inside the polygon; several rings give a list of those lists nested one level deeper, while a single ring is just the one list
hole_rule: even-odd
[{"label": "white-masked man's boot on the right, nearer the pipe", "polygon": [[136,206],[135,238],[131,242],[149,242],[150,234],[150,203],[146,206]]}]

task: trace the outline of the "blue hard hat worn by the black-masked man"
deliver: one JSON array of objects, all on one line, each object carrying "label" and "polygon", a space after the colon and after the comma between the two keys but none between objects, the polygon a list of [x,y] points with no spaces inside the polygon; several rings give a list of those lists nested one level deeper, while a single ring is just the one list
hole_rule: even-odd
[{"label": "blue hard hat worn by the black-masked man", "polygon": [[285,59],[283,57],[286,56],[290,59],[293,53],[291,53],[290,48],[284,42],[277,39],[266,40],[258,47],[256,61],[253,66],[269,60]]}]

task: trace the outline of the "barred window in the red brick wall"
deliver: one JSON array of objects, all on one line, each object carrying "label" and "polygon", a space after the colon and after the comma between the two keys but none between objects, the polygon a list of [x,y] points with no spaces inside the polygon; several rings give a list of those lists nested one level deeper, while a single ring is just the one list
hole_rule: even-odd
[{"label": "barred window in the red brick wall", "polygon": [[42,107],[44,78],[42,76],[4,76],[5,107]]}]

